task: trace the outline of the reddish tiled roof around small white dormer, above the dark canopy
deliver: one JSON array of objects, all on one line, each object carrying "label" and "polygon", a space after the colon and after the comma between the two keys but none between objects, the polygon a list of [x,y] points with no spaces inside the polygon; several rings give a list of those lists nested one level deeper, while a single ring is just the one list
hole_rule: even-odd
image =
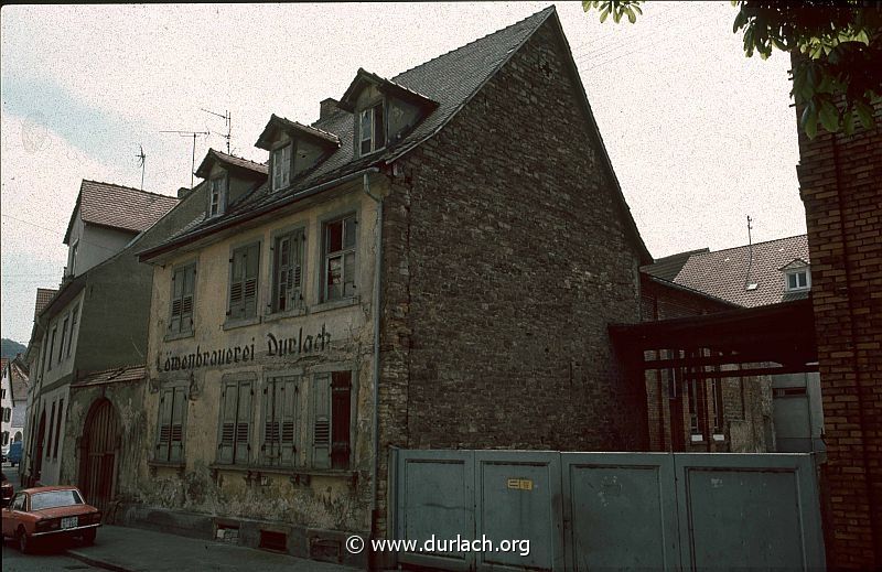
[{"label": "reddish tiled roof around small white dormer, above the dark canopy", "polygon": [[[746,307],[776,304],[807,295],[788,293],[784,288],[781,269],[797,258],[810,262],[806,235],[759,242],[752,248],[693,253],[674,282]],[[747,290],[749,282],[756,288]]]}]

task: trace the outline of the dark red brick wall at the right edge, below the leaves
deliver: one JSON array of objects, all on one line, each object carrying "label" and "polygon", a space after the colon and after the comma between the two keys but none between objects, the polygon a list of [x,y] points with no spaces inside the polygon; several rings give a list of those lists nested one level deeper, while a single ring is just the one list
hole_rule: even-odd
[{"label": "dark red brick wall at the right edge, below the leaves", "polygon": [[799,133],[831,568],[882,568],[882,106],[875,117],[851,137]]}]

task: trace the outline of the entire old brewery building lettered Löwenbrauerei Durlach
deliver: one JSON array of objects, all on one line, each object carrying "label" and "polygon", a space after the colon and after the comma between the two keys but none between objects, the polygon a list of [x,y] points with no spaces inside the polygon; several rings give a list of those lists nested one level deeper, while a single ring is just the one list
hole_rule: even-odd
[{"label": "entire old brewery building lettered L\u00f6wenbrauerei Durlach", "polygon": [[321,110],[269,119],[267,166],[211,151],[205,213],[140,251],[130,514],[364,564],[392,447],[645,450],[606,324],[650,257],[553,8]]}]

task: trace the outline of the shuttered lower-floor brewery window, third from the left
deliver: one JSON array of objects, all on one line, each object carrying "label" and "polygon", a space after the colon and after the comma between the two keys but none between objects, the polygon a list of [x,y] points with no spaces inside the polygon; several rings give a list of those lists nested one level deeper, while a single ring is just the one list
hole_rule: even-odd
[{"label": "shuttered lower-floor brewery window, third from the left", "polygon": [[294,376],[273,377],[263,386],[261,462],[292,466],[297,455],[298,381]]}]

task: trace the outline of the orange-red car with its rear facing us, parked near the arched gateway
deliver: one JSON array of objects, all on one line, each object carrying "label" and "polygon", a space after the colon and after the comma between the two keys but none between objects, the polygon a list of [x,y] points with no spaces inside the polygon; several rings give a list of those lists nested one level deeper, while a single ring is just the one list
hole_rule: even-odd
[{"label": "orange-red car with its rear facing us, parked near the arched gateway", "polygon": [[4,507],[3,538],[14,538],[22,552],[34,540],[46,537],[83,537],[90,544],[101,526],[101,512],[83,500],[73,486],[52,486],[19,490]]}]

